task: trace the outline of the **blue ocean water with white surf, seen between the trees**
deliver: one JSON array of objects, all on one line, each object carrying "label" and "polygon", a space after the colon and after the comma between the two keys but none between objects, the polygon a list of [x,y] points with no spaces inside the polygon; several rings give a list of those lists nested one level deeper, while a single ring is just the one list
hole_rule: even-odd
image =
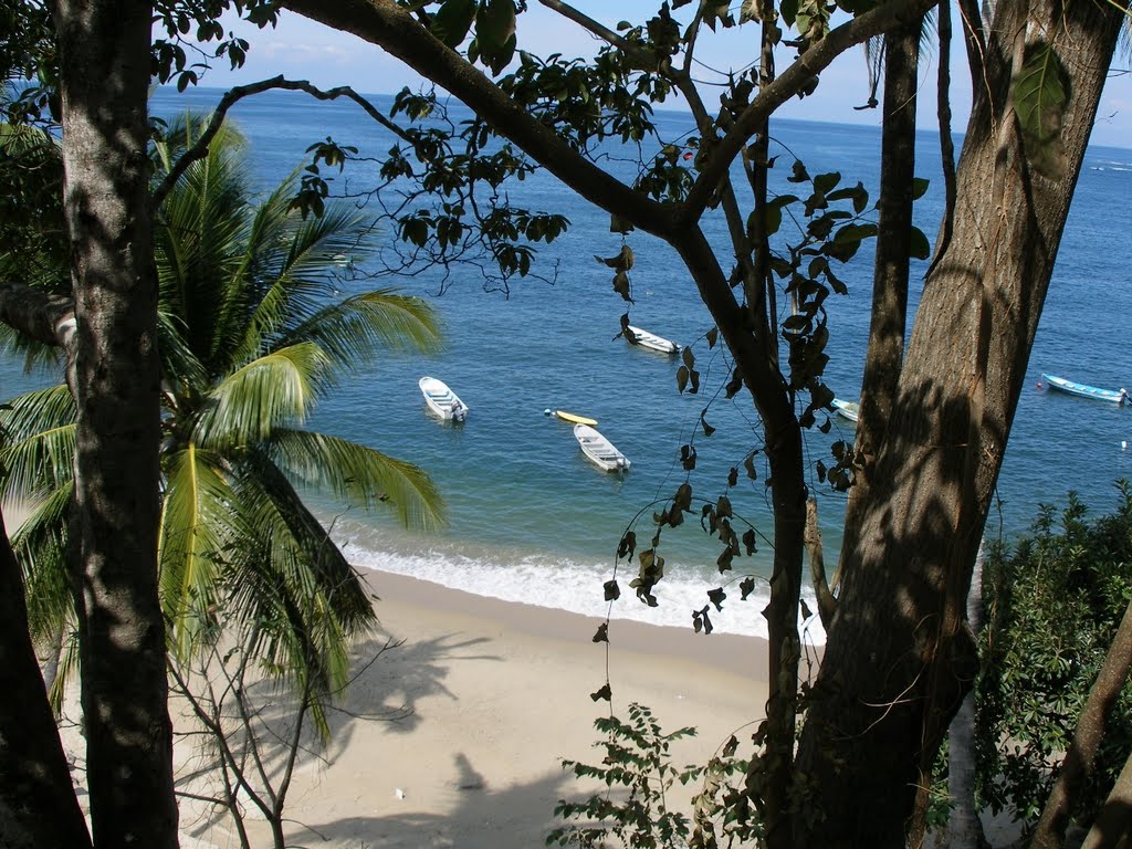
[{"label": "blue ocean water with white surf, seen between the trees", "polygon": [[[179,96],[160,91],[154,112],[207,110],[220,94],[204,89]],[[375,100],[379,105],[389,103],[387,97]],[[357,146],[362,156],[380,155],[391,143],[357,106],[315,103],[299,94],[252,97],[231,115],[250,142],[256,177],[265,188],[291,172],[306,148],[326,136]],[[688,128],[680,113],[661,114],[660,121],[674,137]],[[784,163],[780,180],[796,155],[811,173],[839,171],[847,182],[860,180],[875,189],[878,129],[782,121],[774,134]],[[918,173],[932,186],[918,204],[917,223],[934,240],[942,180],[932,134],[921,134],[919,149]],[[346,180],[350,189],[365,187],[365,166],[348,169],[336,185]],[[644,234],[629,237],[636,255],[631,319],[693,345],[704,379],[698,395],[678,394],[676,358],[615,338],[627,305],[612,291],[609,269],[594,259],[620,249],[620,238],[609,232],[608,216],[547,174],[508,191],[516,204],[560,212],[572,222],[565,237],[540,250],[537,271],[556,274],[554,284],[521,281],[505,298],[484,292],[474,268],[455,267],[447,291],[436,297],[440,289],[436,273],[397,278],[396,285],[405,291],[431,299],[444,326],[443,352],[389,353],[341,386],[308,422],[427,469],[444,492],[447,526],[437,534],[418,535],[385,515],[366,515],[317,497],[312,504],[325,521],[334,522],[335,534],[361,566],[600,615],[607,608],[602,583],[614,574],[621,534],[634,528],[641,547],[646,546],[652,513],[663,508],[685,479],[680,446],[695,439],[698,464],[692,486],[697,497],[714,500],[723,491],[728,471],[741,469],[751,448],[760,445],[758,421],[744,394],[723,398],[727,361],[719,351],[707,350],[704,334],[712,323],[670,249]],[[1132,386],[1132,349],[1125,342],[1132,316],[1130,200],[1132,149],[1090,148],[1031,355],[998,484],[1001,509],[992,516],[992,529],[1001,526],[1006,534],[1024,531],[1039,503],[1060,503],[1070,489],[1101,512],[1114,503],[1114,480],[1132,478],[1132,452],[1123,446],[1132,441],[1132,410],[1036,388],[1043,371],[1113,388]],[[724,246],[721,222],[712,226],[718,243]],[[914,276],[925,269],[919,264]],[[871,248],[866,248],[839,271],[849,295],[831,297],[826,303],[832,334],[826,377],[842,397],[856,397],[860,385],[871,275]],[[917,298],[918,292],[914,308]],[[426,413],[417,387],[422,375],[444,379],[461,395],[470,408],[466,422],[443,423]],[[0,363],[0,396],[25,385],[16,366]],[[632,460],[632,470],[625,475],[599,471],[583,457],[571,427],[543,415],[546,409],[598,419],[599,429]],[[717,428],[710,438],[697,432],[702,413]],[[816,430],[809,435],[812,464],[827,457],[834,438],[852,438],[842,419],[833,419],[829,436]],[[756,481],[740,473],[730,497],[736,514],[769,538],[764,477],[761,468]],[[835,560],[844,497],[818,483],[816,473],[812,488],[818,497],[826,560]],[[721,576],[714,567],[719,544],[694,517],[681,529],[666,530],[661,554],[667,576],[658,592],[660,607],[650,609],[633,598],[627,584],[635,568],[623,564],[618,577],[624,592],[612,606],[614,616],[685,625],[691,611],[706,603],[706,591],[727,583],[735,603],[713,611],[717,628],[764,634],[760,610],[765,592],[738,603],[737,581],[747,572],[767,574],[766,538],[760,539],[754,557],[737,563],[738,576]],[[758,585],[764,589],[765,582]],[[809,637],[821,641],[820,628],[808,627]]]}]

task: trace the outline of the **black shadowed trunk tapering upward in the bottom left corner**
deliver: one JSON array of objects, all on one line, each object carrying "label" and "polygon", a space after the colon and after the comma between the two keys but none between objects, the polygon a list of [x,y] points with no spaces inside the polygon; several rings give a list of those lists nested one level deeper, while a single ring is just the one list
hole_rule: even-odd
[{"label": "black shadowed trunk tapering upward in the bottom left corner", "polygon": [[27,629],[24,582],[0,516],[0,846],[91,846]]}]

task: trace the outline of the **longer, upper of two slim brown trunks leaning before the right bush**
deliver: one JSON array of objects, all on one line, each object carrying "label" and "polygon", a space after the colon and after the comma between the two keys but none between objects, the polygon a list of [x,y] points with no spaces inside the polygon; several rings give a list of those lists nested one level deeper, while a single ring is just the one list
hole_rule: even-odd
[{"label": "longer, upper of two slim brown trunks leaning before the right bush", "polygon": [[1077,720],[1073,741],[1057,772],[1054,789],[1046,799],[1030,849],[1061,849],[1065,841],[1070,808],[1082,783],[1095,770],[1097,749],[1105,736],[1105,722],[1124,688],[1129,669],[1132,669],[1132,603],[1124,611],[1113,644],[1105,655],[1105,663],[1097,674],[1089,698]]}]

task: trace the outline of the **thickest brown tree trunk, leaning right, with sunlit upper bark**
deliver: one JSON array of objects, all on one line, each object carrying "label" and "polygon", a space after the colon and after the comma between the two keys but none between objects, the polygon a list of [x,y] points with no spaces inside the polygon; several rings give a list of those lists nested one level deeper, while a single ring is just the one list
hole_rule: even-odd
[{"label": "thickest brown tree trunk, leaning right, with sunlit upper bark", "polygon": [[[799,846],[903,846],[923,764],[970,687],[963,600],[1120,25],[1092,3],[997,7],[953,235],[925,285],[800,744],[815,815]],[[1054,181],[1029,168],[1007,109],[1022,40],[998,38],[1062,29]]]}]

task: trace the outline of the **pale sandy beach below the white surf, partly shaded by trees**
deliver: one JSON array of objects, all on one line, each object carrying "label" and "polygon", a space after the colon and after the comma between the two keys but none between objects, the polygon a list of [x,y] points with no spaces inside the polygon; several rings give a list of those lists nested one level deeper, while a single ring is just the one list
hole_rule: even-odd
[{"label": "pale sandy beach below the white surf, partly shaded by trees", "polygon": [[[293,846],[369,849],[526,849],[543,844],[554,807],[582,796],[563,758],[600,761],[593,720],[606,680],[598,620],[469,595],[414,578],[371,573],[383,654],[353,685],[357,714],[333,719],[323,760],[297,771],[288,811]],[[666,730],[695,726],[675,762],[705,761],[763,714],[764,644],[614,621],[614,707],[637,701]],[[687,795],[687,791],[685,791]],[[182,813],[183,846],[237,846],[223,821]],[[256,846],[269,846],[252,823]]]}]

